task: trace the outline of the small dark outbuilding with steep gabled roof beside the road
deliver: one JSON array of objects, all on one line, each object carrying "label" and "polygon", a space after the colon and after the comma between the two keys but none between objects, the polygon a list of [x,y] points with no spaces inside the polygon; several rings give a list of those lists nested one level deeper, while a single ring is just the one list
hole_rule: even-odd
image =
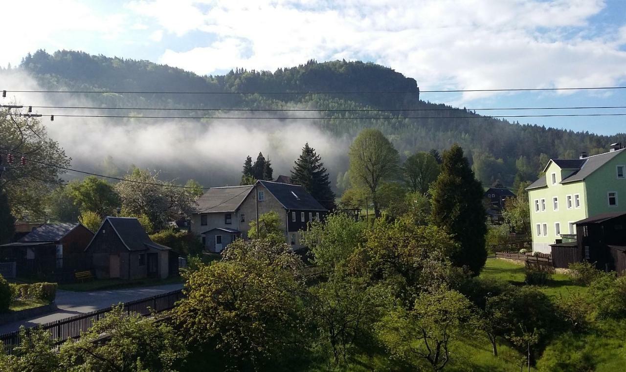
[{"label": "small dark outbuilding with steep gabled roof beside the road", "polygon": [[96,278],[162,278],[178,274],[178,254],[154,243],[136,218],[107,217],[85,252]]}]

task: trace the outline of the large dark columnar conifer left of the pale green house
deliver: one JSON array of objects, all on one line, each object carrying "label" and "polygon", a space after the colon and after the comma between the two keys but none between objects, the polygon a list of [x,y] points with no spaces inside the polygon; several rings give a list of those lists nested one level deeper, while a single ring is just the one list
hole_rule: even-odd
[{"label": "large dark columnar conifer left of the pale green house", "polygon": [[432,220],[453,234],[460,249],[451,257],[455,266],[467,266],[474,275],[485,266],[486,212],[483,186],[477,181],[458,144],[443,153],[441,174],[431,186]]}]

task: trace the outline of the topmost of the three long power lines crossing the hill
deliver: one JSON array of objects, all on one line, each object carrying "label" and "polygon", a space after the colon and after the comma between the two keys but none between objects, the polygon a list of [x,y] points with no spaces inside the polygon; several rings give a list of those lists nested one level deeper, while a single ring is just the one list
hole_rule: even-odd
[{"label": "topmost of the three long power lines crossing the hill", "polygon": [[77,93],[77,94],[415,94],[415,93],[465,93],[465,92],[521,92],[521,91],[580,91],[595,89],[626,89],[626,86],[597,86],[576,88],[501,88],[501,89],[440,89],[418,91],[242,91],[242,92],[190,92],[190,91],[35,91],[5,90],[7,93]]}]

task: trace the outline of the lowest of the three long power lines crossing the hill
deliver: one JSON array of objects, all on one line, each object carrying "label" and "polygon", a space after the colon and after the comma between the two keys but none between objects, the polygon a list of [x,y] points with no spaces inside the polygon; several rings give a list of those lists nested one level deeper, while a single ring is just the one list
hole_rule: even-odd
[{"label": "lowest of the three long power lines crossing the hill", "polygon": [[54,118],[131,118],[131,119],[238,119],[238,120],[363,120],[363,119],[376,119],[376,120],[394,120],[394,119],[478,119],[478,118],[557,118],[557,117],[572,117],[572,116],[626,116],[623,114],[545,114],[545,115],[494,115],[494,116],[350,116],[350,117],[337,117],[337,118],[316,118],[316,117],[280,117],[280,116],[132,116],[132,115],[74,115],[74,114],[61,114],[61,115],[42,115],[45,117]]}]

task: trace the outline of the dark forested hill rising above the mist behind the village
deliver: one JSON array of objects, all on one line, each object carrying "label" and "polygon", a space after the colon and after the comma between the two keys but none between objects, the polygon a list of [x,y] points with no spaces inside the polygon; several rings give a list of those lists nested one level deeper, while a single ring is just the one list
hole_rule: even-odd
[{"label": "dark forested hill rising above the mist behind the village", "polygon": [[[560,156],[575,158],[580,151],[596,154],[626,135],[598,136],[534,125],[519,125],[478,116],[464,109],[419,100],[419,82],[393,69],[362,62],[331,61],[278,69],[235,69],[221,76],[198,76],[148,61],[91,56],[73,51],[48,54],[38,51],[20,66],[42,88],[113,91],[260,92],[259,94],[113,94],[90,96],[102,106],[153,108],[311,108],[376,109],[359,112],[322,112],[317,121],[307,121],[337,137],[353,138],[363,128],[379,128],[403,156],[413,151],[445,149],[459,143],[473,161],[483,184],[496,179],[512,186],[515,178],[534,179],[541,163]],[[272,92],[404,92],[396,94],[271,94]],[[421,109],[425,111],[391,111]],[[126,114],[140,114],[128,113]],[[165,113],[152,111],[151,114]],[[171,114],[171,112],[170,112]],[[178,111],[177,111],[178,114]],[[185,111],[185,115],[210,115]],[[317,114],[317,113],[316,113]],[[311,116],[310,113],[304,113]],[[386,119],[367,119],[368,117]],[[427,116],[428,119],[406,119]],[[358,117],[361,119],[341,119]],[[346,149],[347,153],[347,149]],[[324,154],[322,154],[324,155]],[[242,159],[243,161],[243,159]],[[333,173],[346,170],[339,161]],[[233,169],[239,176],[240,169]],[[234,174],[237,173],[237,174]]]}]

